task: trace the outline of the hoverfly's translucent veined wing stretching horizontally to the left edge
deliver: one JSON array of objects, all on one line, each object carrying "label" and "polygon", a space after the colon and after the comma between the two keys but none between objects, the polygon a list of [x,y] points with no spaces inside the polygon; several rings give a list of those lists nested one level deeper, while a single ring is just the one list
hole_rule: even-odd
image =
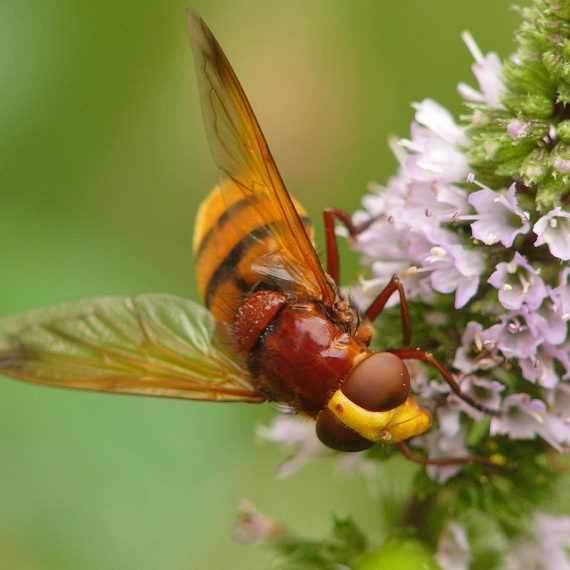
[{"label": "hoverfly's translucent veined wing stretching horizontally to the left edge", "polygon": [[164,294],[72,301],[0,319],[0,373],[68,388],[261,402],[202,306]]}]

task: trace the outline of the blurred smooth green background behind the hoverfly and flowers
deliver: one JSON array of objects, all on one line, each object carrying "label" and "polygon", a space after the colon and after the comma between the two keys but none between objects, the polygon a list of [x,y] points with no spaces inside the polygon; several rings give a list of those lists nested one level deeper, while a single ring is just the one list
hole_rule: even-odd
[{"label": "blurred smooth green background behind the hoverfly and flowers", "polygon": [[[510,0],[194,2],[248,93],[285,181],[320,221],[395,160],[410,102],[455,114],[473,82],[459,34],[512,51]],[[216,180],[187,0],[0,1],[0,314],[69,298],[195,297],[193,216]],[[320,229],[320,225],[318,225]],[[356,272],[354,256],[345,278]],[[380,538],[360,478],[323,460],[286,479],[255,441],[271,406],[0,383],[0,567],[266,568],[231,538],[249,498],[306,536],[351,513]],[[384,492],[393,483],[382,482]]]}]

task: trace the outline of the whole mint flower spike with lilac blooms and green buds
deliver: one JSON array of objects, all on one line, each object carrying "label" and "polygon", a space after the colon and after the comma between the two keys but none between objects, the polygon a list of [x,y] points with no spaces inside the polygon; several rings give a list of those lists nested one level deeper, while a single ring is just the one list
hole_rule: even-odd
[{"label": "whole mint flower spike with lilac blooms and green buds", "polygon": [[[397,172],[369,186],[353,218],[366,229],[350,246],[368,273],[353,297],[367,306],[396,274],[414,343],[433,350],[465,394],[500,412],[473,409],[411,363],[413,397],[432,417],[408,442],[415,453],[514,467],[418,468],[404,518],[432,537],[444,570],[570,570],[570,517],[542,512],[557,493],[558,454],[570,452],[570,0],[529,1],[506,62],[463,34],[476,79],[458,87],[469,116],[456,120],[429,98],[415,103],[410,135],[393,149]],[[398,303],[390,299],[381,316],[382,350],[399,346],[390,326]],[[307,427],[287,418],[260,430],[293,448],[282,474],[332,455]],[[389,488],[382,461],[393,449],[345,455],[339,465]]]}]

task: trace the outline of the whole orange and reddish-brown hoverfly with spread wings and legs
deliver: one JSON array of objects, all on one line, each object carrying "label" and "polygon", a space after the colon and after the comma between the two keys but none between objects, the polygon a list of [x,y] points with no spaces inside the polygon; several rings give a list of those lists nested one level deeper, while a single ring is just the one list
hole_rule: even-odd
[{"label": "whole orange and reddish-brown hoverfly with spread wings and legs", "polygon": [[318,437],[333,449],[391,442],[414,459],[404,441],[425,432],[431,419],[410,395],[404,359],[431,363],[457,395],[483,408],[462,394],[430,353],[371,351],[372,321],[396,292],[404,345],[410,344],[400,281],[394,277],[363,313],[341,292],[335,220],[353,237],[359,228],[344,212],[325,211],[325,272],[312,225],[288,194],[220,45],[193,12],[189,30],[208,139],[221,173],[198,211],[194,235],[205,307],[147,294],[72,301],[7,317],[0,321],[0,372],[103,392],[277,401],[313,418]]}]

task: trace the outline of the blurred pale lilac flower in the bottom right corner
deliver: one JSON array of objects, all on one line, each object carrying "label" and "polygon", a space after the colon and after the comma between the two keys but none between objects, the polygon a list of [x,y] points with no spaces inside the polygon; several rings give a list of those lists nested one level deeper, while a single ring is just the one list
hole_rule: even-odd
[{"label": "blurred pale lilac flower in the bottom right corner", "polygon": [[570,517],[537,512],[528,533],[505,558],[508,570],[570,570]]}]

